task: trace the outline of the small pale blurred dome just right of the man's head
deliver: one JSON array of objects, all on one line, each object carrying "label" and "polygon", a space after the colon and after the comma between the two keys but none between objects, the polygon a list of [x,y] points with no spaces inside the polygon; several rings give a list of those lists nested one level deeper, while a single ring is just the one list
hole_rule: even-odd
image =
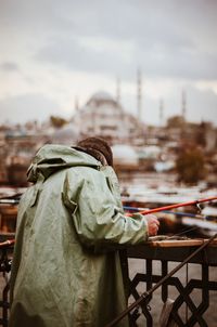
[{"label": "small pale blurred dome just right of the man's head", "polygon": [[112,147],[114,164],[116,165],[138,165],[138,156],[133,147],[125,144],[116,144]]}]

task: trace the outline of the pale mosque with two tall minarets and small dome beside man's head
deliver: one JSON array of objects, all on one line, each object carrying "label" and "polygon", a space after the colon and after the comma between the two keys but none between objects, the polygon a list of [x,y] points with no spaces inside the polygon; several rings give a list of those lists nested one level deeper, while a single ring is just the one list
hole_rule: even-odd
[{"label": "pale mosque with two tall minarets and small dome beside man's head", "polygon": [[54,132],[51,136],[52,143],[71,144],[73,141],[76,143],[77,140],[97,135],[105,139],[112,146],[116,167],[138,169],[137,149],[145,143],[145,127],[141,120],[141,73],[138,70],[136,115],[122,106],[119,82],[116,96],[99,91],[82,106],[78,106],[76,101],[71,122]]}]

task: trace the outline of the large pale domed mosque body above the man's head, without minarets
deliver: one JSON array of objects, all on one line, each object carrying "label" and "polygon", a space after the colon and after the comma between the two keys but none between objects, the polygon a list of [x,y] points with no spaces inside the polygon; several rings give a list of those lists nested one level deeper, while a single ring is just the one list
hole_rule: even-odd
[{"label": "large pale domed mosque body above the man's head, without minarets", "polygon": [[111,144],[143,142],[144,127],[106,92],[93,94],[73,117],[80,138],[98,135]]}]

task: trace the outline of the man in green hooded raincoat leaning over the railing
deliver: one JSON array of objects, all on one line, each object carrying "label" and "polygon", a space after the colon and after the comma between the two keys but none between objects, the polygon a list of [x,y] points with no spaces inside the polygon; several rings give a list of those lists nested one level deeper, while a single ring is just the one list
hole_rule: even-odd
[{"label": "man in green hooded raincoat leaning over the railing", "polygon": [[118,248],[144,243],[158,221],[124,215],[112,165],[99,138],[37,153],[18,208],[10,327],[102,327],[126,308]]}]

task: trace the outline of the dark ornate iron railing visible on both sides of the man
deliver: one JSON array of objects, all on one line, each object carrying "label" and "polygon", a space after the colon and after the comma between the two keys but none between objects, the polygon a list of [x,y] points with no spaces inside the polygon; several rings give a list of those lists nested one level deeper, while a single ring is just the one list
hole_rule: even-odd
[{"label": "dark ornate iron railing visible on both sides of the man", "polygon": [[[135,272],[129,280],[130,298],[129,301],[137,300],[141,290],[139,287],[143,286],[146,290],[151,289],[153,285],[158,283],[169,272],[169,265],[182,262],[192,251],[195,246],[177,246],[162,247],[141,245],[128,249],[128,258],[143,260],[143,272]],[[13,244],[0,246],[0,274],[1,274],[1,298],[0,298],[0,326],[7,327],[9,322],[9,279],[11,270]],[[156,262],[158,263],[158,271],[155,272]],[[173,309],[169,312],[169,322],[174,322],[175,326],[208,326],[214,327],[212,323],[207,322],[204,314],[208,310],[212,301],[210,291],[217,291],[217,274],[216,279],[209,280],[209,270],[216,270],[217,266],[217,246],[213,245],[197,253],[189,263],[196,264],[201,267],[201,277],[195,278],[189,274],[186,283],[179,276],[171,276],[161,287],[161,301],[163,303],[170,297],[170,287],[176,288],[177,296],[174,299]],[[131,272],[132,273],[132,272]],[[187,272],[188,273],[188,272]],[[200,301],[194,303],[192,293],[194,290],[200,292]],[[149,296],[140,308],[136,308],[130,312],[129,318],[131,326],[156,326],[153,318],[153,312],[150,311],[152,306],[153,296]],[[159,300],[157,300],[158,303]],[[186,306],[186,314],[180,313],[180,309]],[[159,306],[159,304],[157,304]],[[157,308],[159,315],[161,310]],[[188,312],[188,314],[187,314]],[[212,322],[217,319],[217,311],[212,312]],[[210,317],[209,317],[210,318]],[[158,319],[158,317],[157,317]],[[164,325],[166,326],[166,325]],[[168,325],[169,326],[169,325]],[[170,325],[171,326],[171,325]]]}]

